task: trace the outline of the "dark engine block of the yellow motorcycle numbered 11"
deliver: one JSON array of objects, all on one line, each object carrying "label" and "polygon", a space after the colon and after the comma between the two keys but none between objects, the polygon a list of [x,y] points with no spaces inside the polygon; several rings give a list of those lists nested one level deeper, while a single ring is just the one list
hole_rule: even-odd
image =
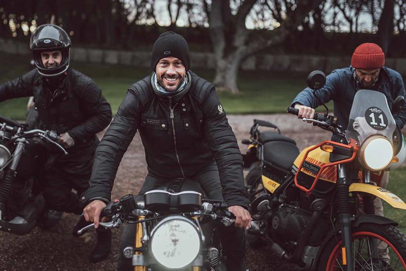
[{"label": "dark engine block of the yellow motorcycle numbered 11", "polygon": [[286,246],[294,245],[300,233],[305,229],[311,218],[311,213],[292,205],[280,205],[270,218],[268,225],[269,236],[277,243]]}]

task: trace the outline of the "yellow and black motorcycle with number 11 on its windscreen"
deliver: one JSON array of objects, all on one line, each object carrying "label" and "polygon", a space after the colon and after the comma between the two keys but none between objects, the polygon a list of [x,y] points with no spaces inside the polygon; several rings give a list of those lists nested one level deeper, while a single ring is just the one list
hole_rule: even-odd
[{"label": "yellow and black motorcycle with number 11 on its windscreen", "polygon": [[[313,90],[324,84],[324,73],[309,75]],[[399,97],[393,108],[403,103]],[[288,108],[288,113],[297,115],[298,110]],[[250,245],[268,243],[300,270],[405,271],[405,234],[398,223],[374,213],[375,197],[406,210],[402,199],[377,185],[385,169],[399,162],[397,155],[404,155],[385,95],[358,90],[346,129],[328,111],[302,120],[338,140],[299,154],[292,139],[258,133],[256,122],[244,141],[250,145],[244,157],[251,167],[246,177],[254,219],[247,231]]]}]

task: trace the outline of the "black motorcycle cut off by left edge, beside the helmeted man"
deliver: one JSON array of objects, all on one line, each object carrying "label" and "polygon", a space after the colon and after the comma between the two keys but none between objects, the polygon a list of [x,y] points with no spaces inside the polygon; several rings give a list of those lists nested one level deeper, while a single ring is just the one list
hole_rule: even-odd
[{"label": "black motorcycle cut off by left edge, beside the helmeted man", "polygon": [[[27,131],[27,125],[0,116],[0,230],[27,234],[43,217],[45,201],[40,181],[45,161],[55,151],[51,146],[68,154],[57,140],[55,132]],[[49,215],[52,224],[61,213]]]}]

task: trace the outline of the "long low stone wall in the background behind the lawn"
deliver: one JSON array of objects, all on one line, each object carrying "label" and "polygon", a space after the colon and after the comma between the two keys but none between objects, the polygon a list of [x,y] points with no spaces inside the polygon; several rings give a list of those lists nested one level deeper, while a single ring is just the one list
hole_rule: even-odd
[{"label": "long low stone wall in the background behind the lawn", "polygon": [[[13,40],[0,39],[0,52],[29,55],[28,45]],[[120,64],[138,67],[150,67],[151,52],[124,51],[111,49],[84,48],[74,46],[71,49],[71,59],[99,64]],[[246,71],[286,71],[310,72],[323,70],[327,73],[336,68],[350,65],[350,56],[320,56],[320,55],[274,55],[260,54],[247,58],[242,69]],[[215,56],[210,52],[191,52],[192,68],[215,68]],[[386,66],[406,76],[406,58],[387,58]]]}]

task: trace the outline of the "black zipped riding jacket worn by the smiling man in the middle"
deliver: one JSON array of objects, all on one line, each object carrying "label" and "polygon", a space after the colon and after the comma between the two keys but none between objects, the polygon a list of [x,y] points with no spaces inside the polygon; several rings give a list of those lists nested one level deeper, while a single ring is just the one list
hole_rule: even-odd
[{"label": "black zipped riding jacket worn by the smiling man in the middle", "polygon": [[110,200],[122,156],[138,130],[152,175],[168,181],[187,178],[214,158],[227,204],[247,208],[242,156],[214,86],[190,72],[186,89],[166,96],[153,87],[151,77],[128,89],[96,149],[82,200]]}]

